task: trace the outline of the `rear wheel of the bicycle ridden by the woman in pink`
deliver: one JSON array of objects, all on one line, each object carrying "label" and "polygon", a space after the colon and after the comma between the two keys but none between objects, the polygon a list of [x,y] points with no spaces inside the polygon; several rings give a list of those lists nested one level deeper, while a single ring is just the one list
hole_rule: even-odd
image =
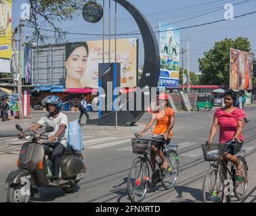
[{"label": "rear wheel of the bicycle ridden by the woman in pink", "polygon": [[243,157],[239,157],[239,162],[242,165],[242,177],[235,177],[234,181],[234,193],[238,200],[242,200],[247,192],[248,184],[248,173],[247,173],[247,163]]}]

